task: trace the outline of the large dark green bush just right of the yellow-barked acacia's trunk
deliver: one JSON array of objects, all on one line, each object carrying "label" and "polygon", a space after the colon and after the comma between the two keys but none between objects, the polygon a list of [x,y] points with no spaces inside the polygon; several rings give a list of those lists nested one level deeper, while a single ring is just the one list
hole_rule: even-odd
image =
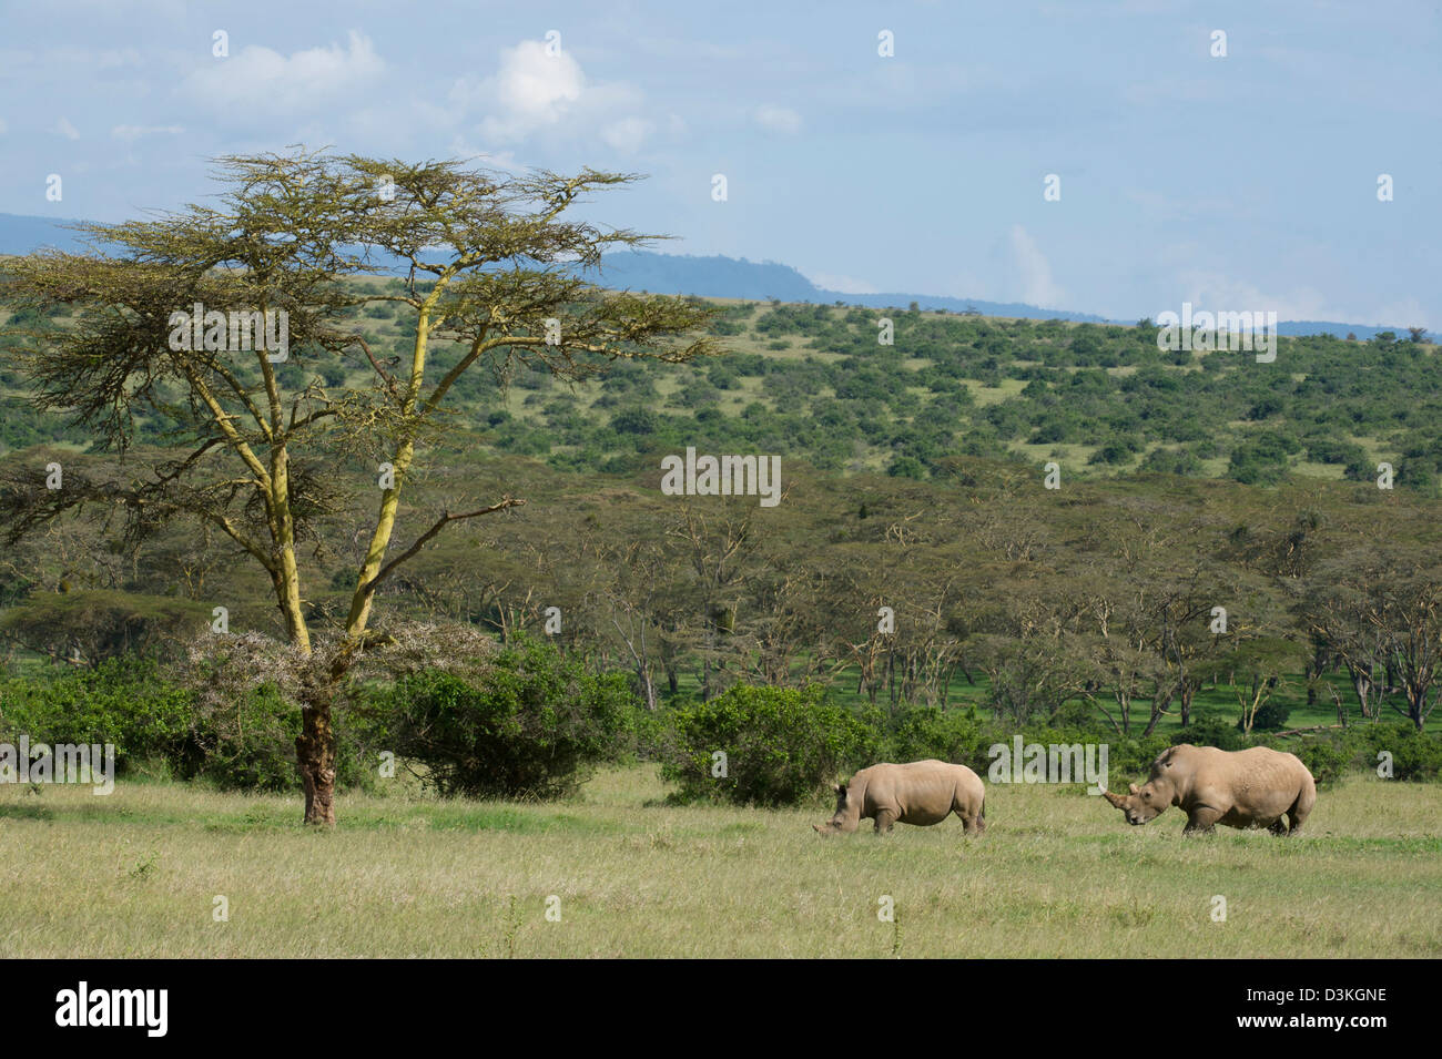
[{"label": "large dark green bush just right of the yellow-barked acacia's trunk", "polygon": [[637,719],[623,673],[596,676],[580,660],[518,637],[485,683],[427,670],[378,699],[392,749],[427,767],[446,795],[558,798],[596,764],[634,751]]}]

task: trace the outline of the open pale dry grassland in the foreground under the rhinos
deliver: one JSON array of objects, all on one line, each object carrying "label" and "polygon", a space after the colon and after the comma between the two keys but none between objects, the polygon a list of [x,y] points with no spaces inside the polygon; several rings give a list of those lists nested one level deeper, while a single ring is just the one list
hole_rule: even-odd
[{"label": "open pale dry grassland in the foreground under the rhinos", "polygon": [[300,827],[298,797],[0,787],[0,955],[1442,955],[1442,785],[1324,788],[1292,840],[1182,840],[1177,810],[1133,828],[1022,785],[988,785],[978,840],[955,818],[828,840],[825,807],[658,804],[646,765],[555,804],[395,782],[342,795],[333,833]]}]

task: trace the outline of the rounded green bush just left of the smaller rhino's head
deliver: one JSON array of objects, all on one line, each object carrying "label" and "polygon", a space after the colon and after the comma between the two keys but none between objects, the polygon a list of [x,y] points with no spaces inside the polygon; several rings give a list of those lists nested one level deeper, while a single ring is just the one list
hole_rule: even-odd
[{"label": "rounded green bush just left of the smaller rhino's head", "polygon": [[[662,775],[681,787],[675,801],[797,805],[820,797],[842,772],[872,764],[878,730],[828,700],[816,684],[738,684],[711,702],[671,713]],[[725,775],[712,775],[715,754]]]}]

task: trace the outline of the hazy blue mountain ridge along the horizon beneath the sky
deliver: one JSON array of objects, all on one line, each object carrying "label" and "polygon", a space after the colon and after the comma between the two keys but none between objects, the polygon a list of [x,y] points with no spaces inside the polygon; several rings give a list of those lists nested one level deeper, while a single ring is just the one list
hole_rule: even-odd
[{"label": "hazy blue mountain ridge along the horizon beneath the sky", "polygon": [[[0,213],[0,255],[30,254],[40,246],[59,249],[81,249],[74,232],[63,228],[69,220],[19,216]],[[397,267],[399,271],[399,267]],[[650,251],[627,251],[610,254],[601,262],[594,282],[616,290],[650,291],[652,294],[695,294],[704,298],[747,298],[764,301],[809,301],[816,304],[844,303],[867,308],[906,308],[913,301],[923,310],[945,310],[947,313],[976,313],[986,317],[1012,317],[1021,320],[1073,320],[1079,323],[1120,323],[1135,320],[1107,320],[1092,313],[1040,308],[1019,301],[983,301],[981,298],[952,298],[940,294],[844,294],[816,287],[810,280],[790,265],[774,261],[747,261],[746,258],[689,256],[678,254],[655,254]],[[1283,320],[1278,324],[1280,334],[1334,334],[1345,337],[1355,334],[1367,340],[1381,331],[1405,331],[1402,326],[1348,324],[1327,320]]]}]

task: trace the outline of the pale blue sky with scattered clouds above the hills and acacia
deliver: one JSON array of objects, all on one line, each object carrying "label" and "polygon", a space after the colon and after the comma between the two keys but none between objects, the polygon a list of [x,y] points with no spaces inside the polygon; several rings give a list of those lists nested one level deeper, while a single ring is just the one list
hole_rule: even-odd
[{"label": "pale blue sky with scattered clouds above the hills and acacia", "polygon": [[590,213],[836,290],[1438,330],[1439,26],[1407,0],[6,0],[0,212],[174,207],[208,157],[291,143],[486,156],[646,173]]}]

